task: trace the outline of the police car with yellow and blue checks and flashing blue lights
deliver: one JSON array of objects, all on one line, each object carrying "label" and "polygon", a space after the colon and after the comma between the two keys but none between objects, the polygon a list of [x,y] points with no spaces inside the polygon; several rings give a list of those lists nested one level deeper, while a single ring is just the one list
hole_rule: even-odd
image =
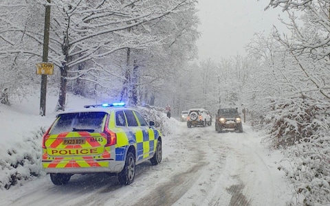
[{"label": "police car with yellow and blue checks and flashing blue lights", "polygon": [[55,185],[94,172],[116,174],[120,184],[129,185],[135,165],[162,161],[162,134],[154,124],[123,103],[59,113],[43,135],[43,168]]}]

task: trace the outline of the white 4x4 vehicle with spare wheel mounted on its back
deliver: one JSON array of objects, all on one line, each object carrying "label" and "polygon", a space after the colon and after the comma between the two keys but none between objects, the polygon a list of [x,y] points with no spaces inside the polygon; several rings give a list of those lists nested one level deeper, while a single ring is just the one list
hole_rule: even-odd
[{"label": "white 4x4 vehicle with spare wheel mounted on its back", "polygon": [[188,128],[197,125],[201,125],[201,126],[211,125],[210,115],[208,115],[208,113],[204,108],[190,108],[190,110],[188,110],[188,117],[187,117]]}]

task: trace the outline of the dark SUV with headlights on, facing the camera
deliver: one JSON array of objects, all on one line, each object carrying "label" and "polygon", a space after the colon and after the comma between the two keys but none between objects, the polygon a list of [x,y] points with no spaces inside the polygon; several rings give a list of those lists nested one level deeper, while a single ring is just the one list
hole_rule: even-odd
[{"label": "dark SUV with headlights on, facing the camera", "polygon": [[224,129],[243,133],[242,119],[237,108],[219,108],[215,117],[215,130],[221,133]]}]

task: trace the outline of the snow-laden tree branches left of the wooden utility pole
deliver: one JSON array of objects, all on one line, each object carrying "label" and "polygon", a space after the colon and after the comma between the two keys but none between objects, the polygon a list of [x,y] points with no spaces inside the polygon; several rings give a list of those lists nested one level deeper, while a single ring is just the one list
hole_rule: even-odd
[{"label": "snow-laden tree branches left of the wooden utility pole", "polygon": [[41,60],[42,47],[29,38],[30,31],[43,34],[40,10],[43,6],[33,6],[32,1],[0,3],[0,90],[8,89],[9,97],[22,98],[29,93],[27,84],[40,82],[36,62]]}]

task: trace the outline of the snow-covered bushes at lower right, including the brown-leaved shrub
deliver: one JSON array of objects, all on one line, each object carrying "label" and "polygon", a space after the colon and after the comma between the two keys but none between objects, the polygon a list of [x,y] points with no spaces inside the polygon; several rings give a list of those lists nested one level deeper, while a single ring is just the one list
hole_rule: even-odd
[{"label": "snow-covered bushes at lower right, including the brown-leaved shrub", "polygon": [[281,170],[294,185],[296,202],[330,205],[330,122],[327,102],[292,98],[272,105],[265,141],[285,152]]}]

